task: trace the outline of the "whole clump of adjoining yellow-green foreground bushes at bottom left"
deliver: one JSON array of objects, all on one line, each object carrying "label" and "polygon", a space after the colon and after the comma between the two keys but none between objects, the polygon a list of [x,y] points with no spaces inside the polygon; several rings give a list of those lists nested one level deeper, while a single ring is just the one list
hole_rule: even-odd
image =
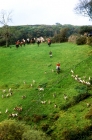
[{"label": "whole clump of adjoining yellow-green foreground bushes at bottom left", "polygon": [[15,120],[0,123],[0,140],[50,140],[45,133]]}]

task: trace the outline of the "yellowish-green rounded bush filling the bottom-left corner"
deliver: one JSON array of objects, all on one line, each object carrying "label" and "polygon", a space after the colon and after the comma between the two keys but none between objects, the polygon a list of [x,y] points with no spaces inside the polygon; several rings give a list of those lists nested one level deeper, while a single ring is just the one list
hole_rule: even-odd
[{"label": "yellowish-green rounded bush filling the bottom-left corner", "polygon": [[15,120],[6,120],[0,123],[0,140],[21,140],[22,134],[29,129]]}]

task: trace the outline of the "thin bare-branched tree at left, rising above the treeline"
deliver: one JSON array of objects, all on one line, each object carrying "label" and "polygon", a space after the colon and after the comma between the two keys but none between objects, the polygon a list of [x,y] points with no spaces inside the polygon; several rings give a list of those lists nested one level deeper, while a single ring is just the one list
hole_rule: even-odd
[{"label": "thin bare-branched tree at left, rising above the treeline", "polygon": [[6,47],[9,46],[9,38],[10,38],[10,32],[9,32],[9,26],[8,23],[12,21],[12,12],[6,12],[4,10],[1,11],[0,16],[0,24],[3,25],[2,27],[2,38],[5,39]]}]

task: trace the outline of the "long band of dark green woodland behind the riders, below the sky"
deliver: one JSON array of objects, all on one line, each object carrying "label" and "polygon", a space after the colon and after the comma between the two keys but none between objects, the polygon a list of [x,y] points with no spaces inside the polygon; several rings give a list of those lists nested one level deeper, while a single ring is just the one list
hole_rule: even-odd
[{"label": "long band of dark green woodland behind the riders, below the sky", "polygon": [[65,42],[69,36],[85,32],[91,33],[92,26],[61,25],[59,23],[55,25],[3,26],[0,28],[0,46],[5,45],[6,42],[13,45],[17,40],[38,37],[44,39],[49,37],[53,42]]}]

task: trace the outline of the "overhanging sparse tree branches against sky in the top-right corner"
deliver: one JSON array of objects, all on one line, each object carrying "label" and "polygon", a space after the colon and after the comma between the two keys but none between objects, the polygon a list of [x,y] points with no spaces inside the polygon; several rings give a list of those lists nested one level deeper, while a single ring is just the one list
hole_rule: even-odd
[{"label": "overhanging sparse tree branches against sky in the top-right corner", "polygon": [[92,0],[79,0],[74,10],[77,14],[89,17],[92,20]]}]

